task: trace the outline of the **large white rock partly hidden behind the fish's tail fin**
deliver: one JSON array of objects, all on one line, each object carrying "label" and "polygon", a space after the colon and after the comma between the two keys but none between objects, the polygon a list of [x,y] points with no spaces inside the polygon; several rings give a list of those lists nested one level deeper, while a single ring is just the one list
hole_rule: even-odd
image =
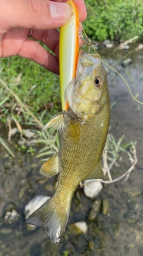
[{"label": "large white rock partly hidden behind the fish's tail fin", "polygon": [[[35,210],[37,210],[39,207],[42,206],[47,200],[49,200],[50,197],[46,195],[38,195],[38,197],[33,198],[29,201],[29,203],[26,204],[24,207],[24,216],[25,219],[29,218],[30,215],[32,215]],[[27,224],[27,230],[35,230],[37,226]]]}]

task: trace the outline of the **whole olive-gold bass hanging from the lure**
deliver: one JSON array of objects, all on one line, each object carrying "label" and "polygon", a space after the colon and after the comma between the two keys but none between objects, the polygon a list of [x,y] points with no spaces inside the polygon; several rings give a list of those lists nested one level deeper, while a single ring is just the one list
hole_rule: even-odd
[{"label": "whole olive-gold bass hanging from the lure", "polygon": [[45,228],[57,244],[67,225],[71,199],[80,182],[103,179],[101,156],[110,122],[107,73],[97,54],[79,52],[76,77],[66,89],[67,112],[61,112],[45,128],[61,131],[60,148],[41,167],[41,174],[59,173],[57,191],[26,223]]}]

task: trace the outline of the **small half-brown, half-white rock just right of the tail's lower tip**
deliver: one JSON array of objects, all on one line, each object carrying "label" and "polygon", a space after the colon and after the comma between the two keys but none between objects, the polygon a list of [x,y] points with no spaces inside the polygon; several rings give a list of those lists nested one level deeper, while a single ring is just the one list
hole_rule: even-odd
[{"label": "small half-brown, half-white rock just right of the tail's lower tip", "polygon": [[88,225],[85,221],[75,222],[69,225],[72,234],[85,234],[88,231]]}]

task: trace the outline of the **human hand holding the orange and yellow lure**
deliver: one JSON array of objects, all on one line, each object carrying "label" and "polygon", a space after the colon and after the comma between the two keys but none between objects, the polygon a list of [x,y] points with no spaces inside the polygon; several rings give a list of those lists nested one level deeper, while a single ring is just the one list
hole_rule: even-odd
[{"label": "human hand holding the orange and yellow lure", "polygon": [[[66,24],[71,17],[67,0],[1,0],[0,1],[0,58],[18,55],[42,65],[55,74],[58,67],[59,32],[56,28]],[[79,19],[86,19],[84,0],[77,0]],[[27,38],[33,28],[32,38],[42,41],[55,56],[41,44]]]}]

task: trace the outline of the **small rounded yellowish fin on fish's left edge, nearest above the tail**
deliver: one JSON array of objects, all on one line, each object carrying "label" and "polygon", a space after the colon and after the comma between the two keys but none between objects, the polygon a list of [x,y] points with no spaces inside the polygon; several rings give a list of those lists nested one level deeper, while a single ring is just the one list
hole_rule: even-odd
[{"label": "small rounded yellowish fin on fish's left edge, nearest above the tail", "polygon": [[58,153],[42,165],[40,173],[46,177],[52,177],[58,173]]}]

